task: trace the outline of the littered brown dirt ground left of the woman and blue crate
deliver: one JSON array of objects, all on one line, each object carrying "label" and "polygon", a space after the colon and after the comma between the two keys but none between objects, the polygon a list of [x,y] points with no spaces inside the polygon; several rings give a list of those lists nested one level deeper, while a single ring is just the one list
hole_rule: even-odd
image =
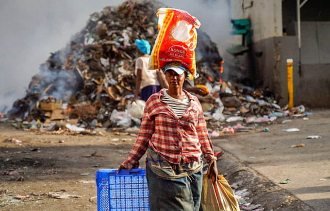
[{"label": "littered brown dirt ground left of the woman and blue crate", "polygon": [[[95,171],[117,168],[134,135],[47,135],[0,123],[0,210],[96,210]],[[11,138],[22,143],[4,142]],[[48,196],[59,190],[81,197]]]}]

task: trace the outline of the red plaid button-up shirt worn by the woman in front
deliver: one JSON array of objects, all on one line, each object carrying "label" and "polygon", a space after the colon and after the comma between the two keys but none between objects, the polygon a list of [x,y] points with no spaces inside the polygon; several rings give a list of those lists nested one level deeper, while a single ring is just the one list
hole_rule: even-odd
[{"label": "red plaid button-up shirt worn by the woman in front", "polygon": [[214,158],[202,106],[197,97],[183,90],[190,101],[179,119],[164,102],[165,89],[151,95],[146,103],[139,135],[129,157],[123,162],[126,169],[138,166],[138,160],[148,146],[173,164],[199,161],[201,154],[209,162]]}]

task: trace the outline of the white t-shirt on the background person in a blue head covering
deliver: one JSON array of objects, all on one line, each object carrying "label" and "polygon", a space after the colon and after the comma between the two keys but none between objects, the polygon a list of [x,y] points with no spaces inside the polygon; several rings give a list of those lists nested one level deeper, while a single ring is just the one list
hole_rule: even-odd
[{"label": "white t-shirt on the background person in a blue head covering", "polygon": [[142,70],[142,81],[140,86],[141,89],[150,85],[159,86],[157,72],[156,70],[148,70],[148,62],[149,56],[140,56],[135,61],[135,75],[137,69]]}]

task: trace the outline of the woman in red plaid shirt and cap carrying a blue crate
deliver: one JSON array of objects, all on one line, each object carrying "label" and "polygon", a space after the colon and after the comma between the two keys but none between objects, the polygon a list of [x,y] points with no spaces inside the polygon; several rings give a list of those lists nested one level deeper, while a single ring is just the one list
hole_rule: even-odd
[{"label": "woman in red plaid shirt and cap carrying a blue crate", "polygon": [[[137,140],[118,172],[137,168],[138,160],[147,152],[150,210],[198,211],[201,155],[207,162],[216,158],[202,107],[197,97],[182,89],[188,70],[180,63],[170,63],[164,72],[169,87],[148,99]],[[216,164],[211,167],[215,181]]]}]

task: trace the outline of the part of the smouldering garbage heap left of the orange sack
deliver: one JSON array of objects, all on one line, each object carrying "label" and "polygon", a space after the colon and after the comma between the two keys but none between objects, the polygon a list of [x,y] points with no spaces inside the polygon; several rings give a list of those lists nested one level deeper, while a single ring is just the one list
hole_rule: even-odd
[{"label": "part of the smouldering garbage heap left of the orange sack", "polygon": [[[126,111],[135,87],[133,72],[138,55],[133,43],[135,39],[154,43],[156,12],[162,6],[157,1],[125,1],[90,15],[86,27],[41,64],[26,96],[16,100],[7,116],[15,120],[16,127],[25,129],[139,124],[140,120]],[[215,52],[210,37],[203,39],[206,44],[199,47],[201,51]],[[215,54],[220,57],[217,50]],[[200,65],[209,67],[212,63],[209,59]]]}]

